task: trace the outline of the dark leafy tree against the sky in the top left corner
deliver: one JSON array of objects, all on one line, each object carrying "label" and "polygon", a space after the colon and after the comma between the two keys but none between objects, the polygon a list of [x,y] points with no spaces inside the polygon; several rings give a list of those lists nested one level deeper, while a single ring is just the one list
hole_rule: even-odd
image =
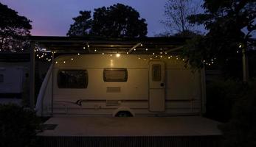
[{"label": "dark leafy tree against the sky in the top left corner", "polygon": [[0,50],[15,51],[22,49],[25,42],[18,40],[20,36],[30,35],[29,19],[18,15],[18,12],[11,10],[0,3]]}]

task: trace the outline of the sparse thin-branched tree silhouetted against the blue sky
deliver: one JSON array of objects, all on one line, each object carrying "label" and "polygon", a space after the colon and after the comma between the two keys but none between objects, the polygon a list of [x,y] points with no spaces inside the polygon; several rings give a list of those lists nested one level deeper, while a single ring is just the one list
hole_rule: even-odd
[{"label": "sparse thin-branched tree silhouetted against the blue sky", "polygon": [[167,20],[163,21],[163,24],[172,33],[192,32],[195,24],[191,24],[187,17],[196,15],[196,12],[198,12],[198,6],[192,0],[167,0],[165,4]]}]

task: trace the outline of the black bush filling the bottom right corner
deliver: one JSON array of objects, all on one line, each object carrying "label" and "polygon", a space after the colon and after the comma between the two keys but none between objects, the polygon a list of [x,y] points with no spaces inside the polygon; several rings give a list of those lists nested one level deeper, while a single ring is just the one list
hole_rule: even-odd
[{"label": "black bush filling the bottom right corner", "polygon": [[220,126],[226,147],[256,146],[256,83],[249,85],[232,109],[232,119]]}]

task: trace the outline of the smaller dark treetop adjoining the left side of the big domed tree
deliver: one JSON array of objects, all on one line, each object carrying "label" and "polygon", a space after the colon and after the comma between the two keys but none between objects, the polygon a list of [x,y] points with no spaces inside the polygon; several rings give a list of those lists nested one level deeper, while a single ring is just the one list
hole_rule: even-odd
[{"label": "smaller dark treetop adjoining the left side of the big domed tree", "polygon": [[70,25],[68,36],[86,36],[91,31],[91,11],[80,11],[80,15],[72,18],[75,23]]}]

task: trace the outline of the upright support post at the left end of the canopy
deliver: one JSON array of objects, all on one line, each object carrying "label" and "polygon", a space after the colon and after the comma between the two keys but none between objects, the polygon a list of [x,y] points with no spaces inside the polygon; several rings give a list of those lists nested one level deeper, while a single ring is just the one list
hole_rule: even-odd
[{"label": "upright support post at the left end of the canopy", "polygon": [[30,42],[30,108],[35,108],[35,43]]}]

